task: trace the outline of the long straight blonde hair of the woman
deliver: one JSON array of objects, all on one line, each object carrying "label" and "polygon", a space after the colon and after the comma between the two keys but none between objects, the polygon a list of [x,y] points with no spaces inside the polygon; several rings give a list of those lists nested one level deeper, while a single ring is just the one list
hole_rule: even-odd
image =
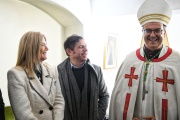
[{"label": "long straight blonde hair of the woman", "polygon": [[40,32],[29,31],[21,37],[19,42],[16,66],[28,71],[27,74],[30,78],[34,78],[34,67],[41,62],[40,47],[43,38],[46,40]]}]

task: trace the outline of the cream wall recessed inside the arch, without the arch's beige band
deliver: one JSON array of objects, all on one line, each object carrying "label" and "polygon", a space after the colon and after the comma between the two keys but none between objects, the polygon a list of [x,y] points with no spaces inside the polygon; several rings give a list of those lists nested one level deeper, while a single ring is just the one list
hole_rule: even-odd
[{"label": "cream wall recessed inside the arch, without the arch's beige band", "polygon": [[7,71],[16,64],[21,36],[27,31],[43,33],[49,47],[47,62],[57,65],[62,61],[61,54],[64,52],[63,27],[41,10],[21,1],[0,0],[0,8],[0,88],[8,106]]}]

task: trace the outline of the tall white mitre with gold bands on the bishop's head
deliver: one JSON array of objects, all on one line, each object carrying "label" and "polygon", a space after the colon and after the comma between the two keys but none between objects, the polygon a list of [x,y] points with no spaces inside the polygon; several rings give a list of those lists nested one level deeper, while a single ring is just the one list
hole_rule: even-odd
[{"label": "tall white mitre with gold bands on the bishop's head", "polygon": [[141,26],[148,22],[160,22],[167,26],[171,15],[172,10],[165,0],[146,0],[137,13]]}]

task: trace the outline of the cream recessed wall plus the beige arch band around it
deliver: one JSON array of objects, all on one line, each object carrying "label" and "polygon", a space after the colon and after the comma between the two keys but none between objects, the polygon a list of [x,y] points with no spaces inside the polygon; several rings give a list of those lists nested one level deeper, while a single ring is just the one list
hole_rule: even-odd
[{"label": "cream recessed wall plus the beige arch band around it", "polygon": [[49,47],[46,61],[58,65],[66,58],[65,38],[83,35],[83,25],[69,10],[50,0],[0,0],[0,8],[0,88],[5,105],[9,106],[7,71],[16,64],[21,36],[27,31],[43,33]]}]

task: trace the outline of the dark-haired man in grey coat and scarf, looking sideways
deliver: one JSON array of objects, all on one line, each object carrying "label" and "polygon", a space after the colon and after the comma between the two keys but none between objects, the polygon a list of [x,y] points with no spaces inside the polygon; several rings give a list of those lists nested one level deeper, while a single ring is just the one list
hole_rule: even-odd
[{"label": "dark-haired man in grey coat and scarf, looking sideways", "polygon": [[64,49],[68,58],[57,67],[65,99],[64,120],[103,120],[109,93],[101,68],[87,59],[83,37],[69,36]]}]

